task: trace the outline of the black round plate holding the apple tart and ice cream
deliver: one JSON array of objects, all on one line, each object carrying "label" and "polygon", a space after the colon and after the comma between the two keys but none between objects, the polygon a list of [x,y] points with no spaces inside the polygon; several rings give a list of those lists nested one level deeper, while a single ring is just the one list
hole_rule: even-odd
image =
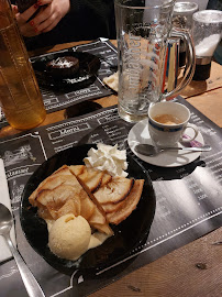
[{"label": "black round plate holding the apple tart and ice cream", "polygon": [[114,235],[101,246],[89,250],[78,261],[67,261],[57,257],[48,249],[48,232],[46,223],[37,216],[36,208],[29,202],[29,197],[38,184],[62,165],[84,164],[93,144],[85,144],[65,150],[44,162],[30,177],[21,201],[21,226],[26,240],[32,248],[58,271],[70,273],[76,268],[101,270],[126,257],[133,249],[146,241],[155,212],[155,195],[147,172],[133,157],[127,156],[129,177],[145,179],[143,194],[137,208],[119,226],[111,226]]}]

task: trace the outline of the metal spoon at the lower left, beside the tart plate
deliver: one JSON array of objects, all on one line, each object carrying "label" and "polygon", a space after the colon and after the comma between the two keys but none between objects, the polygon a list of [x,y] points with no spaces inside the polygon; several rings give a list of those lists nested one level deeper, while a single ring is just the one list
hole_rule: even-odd
[{"label": "metal spoon at the lower left, beside the tart plate", "polygon": [[5,239],[10,251],[16,262],[18,268],[24,282],[24,286],[27,290],[30,297],[45,297],[41,286],[37,280],[24,263],[23,258],[19,254],[18,250],[14,248],[10,239],[10,230],[12,228],[13,218],[10,210],[2,204],[0,204],[0,235]]}]

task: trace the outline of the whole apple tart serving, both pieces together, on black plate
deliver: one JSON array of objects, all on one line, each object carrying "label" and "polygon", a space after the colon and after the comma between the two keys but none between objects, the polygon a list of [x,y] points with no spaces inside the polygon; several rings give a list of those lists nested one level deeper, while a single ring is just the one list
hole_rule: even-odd
[{"label": "whole apple tart serving, both pieces together, on black plate", "polygon": [[119,224],[131,215],[143,185],[143,179],[113,177],[85,165],[64,165],[43,180],[29,200],[46,221],[74,213],[110,235],[113,232],[109,223]]}]

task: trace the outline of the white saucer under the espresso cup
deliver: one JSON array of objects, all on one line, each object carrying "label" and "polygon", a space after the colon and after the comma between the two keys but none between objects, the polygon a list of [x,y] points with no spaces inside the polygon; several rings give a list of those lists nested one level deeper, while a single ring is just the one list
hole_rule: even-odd
[{"label": "white saucer under the espresso cup", "polygon": [[[186,130],[186,135],[192,138],[193,131],[192,129]],[[204,144],[203,138],[201,133],[199,132],[196,141],[200,142],[201,144]],[[149,133],[148,133],[148,127],[147,127],[147,119],[136,123],[127,135],[127,143],[131,147],[132,152],[143,160],[146,163],[149,163],[152,165],[160,166],[160,167],[177,167],[177,166],[184,166],[186,164],[191,163],[196,158],[198,158],[201,155],[201,152],[189,152],[189,151],[165,151],[157,156],[148,157],[141,155],[135,152],[134,147],[138,143],[147,143],[153,144]],[[185,146],[182,143],[179,143],[178,146]]]}]

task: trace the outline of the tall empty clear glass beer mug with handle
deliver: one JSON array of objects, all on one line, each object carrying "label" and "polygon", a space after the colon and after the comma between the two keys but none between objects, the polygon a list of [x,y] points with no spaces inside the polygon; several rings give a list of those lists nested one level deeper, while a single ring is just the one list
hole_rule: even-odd
[{"label": "tall empty clear glass beer mug with handle", "polygon": [[[148,107],[178,95],[195,70],[189,32],[173,26],[173,0],[115,0],[119,53],[119,114],[129,122],[147,117]],[[166,48],[171,36],[182,37],[189,50],[184,80],[163,94]],[[175,74],[176,75],[176,74]]]}]

